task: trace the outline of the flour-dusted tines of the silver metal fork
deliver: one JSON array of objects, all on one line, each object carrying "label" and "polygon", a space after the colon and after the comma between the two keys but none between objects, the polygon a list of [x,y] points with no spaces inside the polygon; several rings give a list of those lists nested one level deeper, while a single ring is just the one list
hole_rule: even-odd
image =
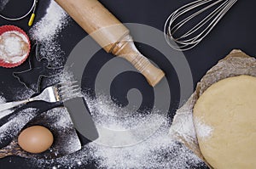
[{"label": "flour-dusted tines of the silver metal fork", "polygon": [[57,85],[59,96],[62,101],[67,101],[68,99],[83,97],[81,93],[81,88],[77,81],[73,82],[61,82]]}]

